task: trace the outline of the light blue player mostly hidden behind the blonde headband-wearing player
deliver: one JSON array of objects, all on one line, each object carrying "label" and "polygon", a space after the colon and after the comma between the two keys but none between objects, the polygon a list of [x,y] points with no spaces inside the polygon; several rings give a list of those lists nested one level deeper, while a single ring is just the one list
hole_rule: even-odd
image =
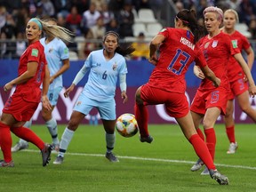
[{"label": "light blue player mostly hidden behind the blonde headband-wearing player", "polygon": [[[49,25],[57,25],[55,19],[49,19],[47,21]],[[48,90],[48,98],[52,104],[52,110],[42,108],[42,117],[45,124],[52,135],[52,146],[56,151],[59,151],[60,141],[58,139],[58,127],[56,119],[52,116],[52,111],[57,104],[60,91],[63,87],[62,74],[69,68],[69,54],[68,47],[62,40],[54,36],[45,36],[40,39],[40,43],[44,46],[44,53],[50,70],[50,86]],[[25,127],[30,128],[32,124],[32,118],[26,124]],[[22,149],[28,148],[28,142],[20,139],[19,142],[12,147],[12,152],[16,152]]]}]

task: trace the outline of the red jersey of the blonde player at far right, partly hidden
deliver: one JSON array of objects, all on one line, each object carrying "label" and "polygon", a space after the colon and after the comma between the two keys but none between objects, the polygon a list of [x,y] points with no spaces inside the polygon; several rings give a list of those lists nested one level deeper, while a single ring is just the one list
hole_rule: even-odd
[{"label": "red jersey of the blonde player at far right, partly hidden", "polygon": [[[229,35],[233,46],[238,47],[240,52],[250,48],[251,44],[248,39],[243,36],[238,31],[235,31],[233,34]],[[239,78],[244,77],[243,68],[236,61],[234,57],[230,57],[228,61],[228,79],[230,82],[234,82]]]}]

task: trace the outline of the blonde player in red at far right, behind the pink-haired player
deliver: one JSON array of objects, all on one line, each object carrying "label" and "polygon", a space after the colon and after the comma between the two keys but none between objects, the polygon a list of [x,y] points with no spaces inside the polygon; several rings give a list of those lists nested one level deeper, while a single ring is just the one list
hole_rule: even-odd
[{"label": "blonde player in red at far right, behind the pink-haired player", "polygon": [[[252,70],[254,62],[254,52],[248,39],[239,33],[236,29],[236,22],[239,22],[238,14],[233,9],[228,9],[224,12],[224,27],[221,29],[223,33],[230,36],[232,44],[235,44],[240,52],[244,50],[247,55],[248,67]],[[256,123],[256,111],[252,108],[249,101],[249,92],[247,78],[244,76],[243,68],[237,63],[237,61],[230,57],[228,61],[228,80],[231,88],[231,92],[228,94],[228,105],[225,115],[226,132],[229,140],[229,148],[227,153],[236,153],[238,147],[235,137],[235,122],[233,118],[234,105],[233,101],[236,97],[239,107],[244,111],[245,114],[250,116]]]}]

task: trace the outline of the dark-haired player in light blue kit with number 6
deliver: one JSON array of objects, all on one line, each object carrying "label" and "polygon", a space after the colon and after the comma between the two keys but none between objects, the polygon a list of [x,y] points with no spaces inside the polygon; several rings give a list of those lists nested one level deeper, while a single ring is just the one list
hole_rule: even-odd
[{"label": "dark-haired player in light blue kit with number 6", "polygon": [[68,126],[60,140],[60,151],[53,164],[62,164],[64,154],[72,140],[74,132],[78,128],[84,116],[88,115],[92,108],[97,108],[106,132],[107,152],[106,158],[110,162],[118,162],[118,158],[112,153],[115,146],[116,134],[116,82],[119,76],[121,97],[124,103],[128,100],[126,95],[127,67],[125,55],[131,54],[134,49],[130,44],[127,47],[119,46],[119,36],[114,31],[108,31],[103,37],[103,49],[93,51],[84,62],[83,68],[77,73],[73,83],[68,87],[64,96],[72,92],[90,69],[87,83],[80,93],[73,108]]}]

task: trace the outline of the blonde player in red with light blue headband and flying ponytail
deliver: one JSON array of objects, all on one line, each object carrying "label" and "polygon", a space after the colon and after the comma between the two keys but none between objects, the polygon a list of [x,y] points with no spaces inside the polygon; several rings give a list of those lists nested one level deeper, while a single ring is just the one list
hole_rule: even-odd
[{"label": "blonde player in red with light blue headband and flying ponytail", "polygon": [[[8,92],[16,85],[15,92],[6,101],[0,121],[0,147],[4,154],[4,160],[0,161],[0,167],[13,167],[12,161],[12,137],[13,132],[23,140],[28,140],[41,150],[43,166],[49,163],[52,146],[44,143],[35,132],[23,127],[34,114],[40,101],[44,108],[52,109],[47,92],[50,83],[50,73],[44,55],[44,46],[39,39],[42,32],[54,34],[70,40],[65,28],[55,28],[47,25],[43,20],[32,18],[28,20],[26,36],[28,48],[20,57],[18,77],[4,85],[4,91]],[[43,90],[40,85],[43,83]]]}]

